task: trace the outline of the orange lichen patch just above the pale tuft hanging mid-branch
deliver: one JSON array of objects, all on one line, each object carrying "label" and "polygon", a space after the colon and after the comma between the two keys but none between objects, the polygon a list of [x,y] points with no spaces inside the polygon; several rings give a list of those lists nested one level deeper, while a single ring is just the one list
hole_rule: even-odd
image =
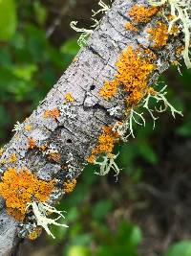
[{"label": "orange lichen patch just above the pale tuft hanging mid-branch", "polygon": [[94,163],[96,154],[111,153],[114,150],[115,143],[118,140],[117,132],[113,131],[113,126],[103,127],[102,133],[98,136],[96,148],[93,149],[92,154],[87,158],[89,163]]}]

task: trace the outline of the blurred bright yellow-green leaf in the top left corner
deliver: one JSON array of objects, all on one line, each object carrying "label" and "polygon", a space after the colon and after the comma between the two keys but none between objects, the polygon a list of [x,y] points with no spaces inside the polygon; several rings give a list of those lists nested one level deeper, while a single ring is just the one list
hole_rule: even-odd
[{"label": "blurred bright yellow-green leaf in the top left corner", "polygon": [[0,0],[0,41],[7,41],[16,29],[16,8],[14,0]]}]

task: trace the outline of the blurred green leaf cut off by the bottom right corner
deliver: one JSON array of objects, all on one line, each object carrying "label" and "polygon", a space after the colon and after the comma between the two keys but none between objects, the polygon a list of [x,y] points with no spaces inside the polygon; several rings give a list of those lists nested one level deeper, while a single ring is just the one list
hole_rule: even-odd
[{"label": "blurred green leaf cut off by the bottom right corner", "polygon": [[165,256],[191,256],[191,241],[181,241],[171,245]]}]

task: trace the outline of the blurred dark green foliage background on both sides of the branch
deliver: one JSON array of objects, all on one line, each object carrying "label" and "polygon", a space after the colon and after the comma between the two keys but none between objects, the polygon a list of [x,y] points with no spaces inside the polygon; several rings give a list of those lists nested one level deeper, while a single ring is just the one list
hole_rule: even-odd
[{"label": "blurred dark green foliage background on both sides of the branch", "polygon": [[[79,47],[70,21],[91,25],[96,0],[0,0],[0,145],[68,67]],[[148,116],[137,138],[118,145],[118,180],[89,166],[58,208],[68,229],[25,242],[21,255],[191,256],[191,72],[173,68],[160,79],[183,111],[176,120]]]}]

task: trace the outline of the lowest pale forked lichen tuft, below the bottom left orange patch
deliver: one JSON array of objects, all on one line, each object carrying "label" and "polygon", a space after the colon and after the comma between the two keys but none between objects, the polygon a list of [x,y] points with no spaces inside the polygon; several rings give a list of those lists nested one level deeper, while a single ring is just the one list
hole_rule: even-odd
[{"label": "lowest pale forked lichen tuft, below the bottom left orange patch", "polygon": [[[53,206],[49,205],[48,203],[32,201],[32,202],[28,203],[27,209],[29,209],[29,207],[32,207],[33,215],[36,219],[37,225],[42,226],[45,229],[45,231],[47,232],[47,234],[51,235],[53,237],[53,239],[55,239],[55,237],[53,236],[53,233],[51,232],[51,230],[49,228],[50,224],[53,224],[56,226],[68,227],[68,225],[66,225],[66,224],[57,222],[60,218],[65,219],[65,217],[62,214],[62,211],[57,211]],[[58,217],[55,219],[51,219],[51,218],[47,217],[48,215],[53,214],[53,213],[57,214]]]}]

